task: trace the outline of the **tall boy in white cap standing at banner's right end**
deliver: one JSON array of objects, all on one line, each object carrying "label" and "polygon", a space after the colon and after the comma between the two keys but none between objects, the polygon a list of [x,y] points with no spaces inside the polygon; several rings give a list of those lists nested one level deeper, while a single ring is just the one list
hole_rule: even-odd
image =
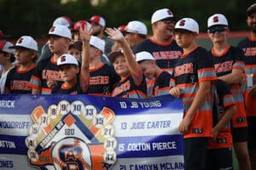
[{"label": "tall boy in white cap standing at banner's right end", "polygon": [[178,128],[183,133],[185,170],[205,168],[207,141],[212,138],[212,86],[217,77],[207,50],[195,43],[198,33],[199,26],[191,18],[175,25],[183,54],[174,65],[170,94],[183,99],[184,115]]}]

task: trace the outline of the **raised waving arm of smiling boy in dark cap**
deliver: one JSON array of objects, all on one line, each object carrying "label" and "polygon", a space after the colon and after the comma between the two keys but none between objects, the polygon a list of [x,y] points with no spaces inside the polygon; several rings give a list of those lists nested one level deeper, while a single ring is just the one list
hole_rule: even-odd
[{"label": "raised waving arm of smiling boy in dark cap", "polygon": [[123,53],[125,55],[126,62],[129,63],[128,66],[131,73],[137,75],[137,72],[139,71],[139,65],[137,64],[137,61],[135,60],[134,55],[132,54],[131,48],[126,42],[123,34],[115,28],[107,28],[106,33],[108,34],[108,37],[110,39],[119,42],[121,48],[123,48]]}]

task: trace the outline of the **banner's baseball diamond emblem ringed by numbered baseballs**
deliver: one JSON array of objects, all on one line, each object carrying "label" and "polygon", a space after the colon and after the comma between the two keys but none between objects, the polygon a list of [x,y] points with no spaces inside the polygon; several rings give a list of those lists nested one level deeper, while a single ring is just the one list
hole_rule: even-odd
[{"label": "banner's baseball diamond emblem ringed by numbered baseballs", "polygon": [[107,170],[116,161],[112,122],[114,112],[106,107],[75,100],[61,100],[46,111],[32,111],[27,156],[33,166],[57,170]]}]

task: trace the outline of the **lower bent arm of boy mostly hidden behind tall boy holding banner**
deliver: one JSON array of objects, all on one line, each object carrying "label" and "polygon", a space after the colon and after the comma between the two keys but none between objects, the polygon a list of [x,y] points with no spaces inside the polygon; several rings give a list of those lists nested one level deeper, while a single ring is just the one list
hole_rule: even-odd
[{"label": "lower bent arm of boy mostly hidden behind tall boy holding banner", "polygon": [[215,125],[215,127],[213,127],[213,138],[214,139],[218,135],[219,130],[221,128],[223,128],[227,122],[230,122],[230,120],[232,119],[232,116],[234,116],[236,114],[236,105],[230,105],[225,109],[226,109],[226,111],[225,111],[224,116],[219,120],[217,125]]}]

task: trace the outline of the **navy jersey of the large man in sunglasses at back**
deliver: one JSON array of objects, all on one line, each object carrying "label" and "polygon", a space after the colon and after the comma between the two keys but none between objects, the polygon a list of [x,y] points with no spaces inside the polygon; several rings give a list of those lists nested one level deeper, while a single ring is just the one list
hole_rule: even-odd
[{"label": "navy jersey of the large man in sunglasses at back", "polygon": [[173,66],[177,57],[182,54],[183,49],[177,46],[175,40],[160,44],[159,42],[155,42],[153,37],[150,37],[139,43],[133,50],[134,54],[142,51],[148,51],[148,53],[152,54],[157,65],[164,71],[172,74]]}]

